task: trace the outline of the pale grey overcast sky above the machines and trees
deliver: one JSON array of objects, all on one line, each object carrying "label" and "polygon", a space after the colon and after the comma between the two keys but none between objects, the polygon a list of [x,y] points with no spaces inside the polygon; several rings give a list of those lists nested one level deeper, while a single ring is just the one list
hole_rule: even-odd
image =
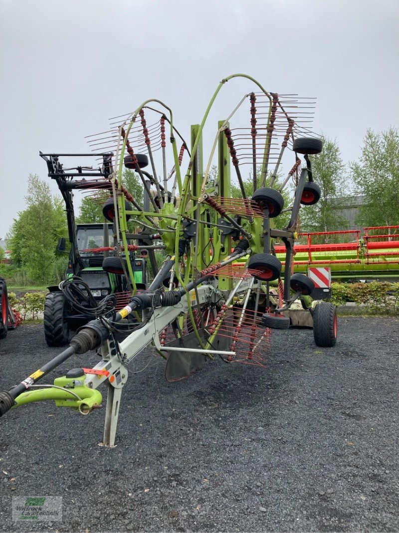
[{"label": "pale grey overcast sky above the machines and trees", "polygon": [[[368,127],[398,125],[398,22],[399,0],[0,0],[0,237],[28,174],[49,180],[39,150],[87,151],[147,98],[189,138],[234,72],[316,96],[314,130],[358,159]],[[253,88],[231,83],[219,119]]]}]

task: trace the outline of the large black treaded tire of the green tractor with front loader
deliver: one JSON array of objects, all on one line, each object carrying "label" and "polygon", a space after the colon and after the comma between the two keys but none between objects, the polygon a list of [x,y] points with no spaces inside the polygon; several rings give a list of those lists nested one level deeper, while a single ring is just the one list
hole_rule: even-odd
[{"label": "large black treaded tire of the green tractor with front loader", "polygon": [[61,292],[46,294],[44,336],[47,346],[64,346],[69,341],[69,324],[64,318],[65,297]]}]

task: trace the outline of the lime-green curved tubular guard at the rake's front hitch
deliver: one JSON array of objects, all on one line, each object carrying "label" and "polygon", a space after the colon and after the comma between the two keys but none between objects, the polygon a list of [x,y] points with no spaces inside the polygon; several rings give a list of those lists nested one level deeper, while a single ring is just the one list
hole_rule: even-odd
[{"label": "lime-green curved tubular guard at the rake's front hitch", "polygon": [[71,390],[48,387],[46,389],[23,392],[15,399],[15,406],[13,408],[20,407],[26,403],[44,400],[55,400],[56,407],[71,407],[72,409],[79,410],[82,415],[88,415],[93,408],[101,406],[103,397],[98,390],[89,389],[89,387],[85,386],[73,387]]}]

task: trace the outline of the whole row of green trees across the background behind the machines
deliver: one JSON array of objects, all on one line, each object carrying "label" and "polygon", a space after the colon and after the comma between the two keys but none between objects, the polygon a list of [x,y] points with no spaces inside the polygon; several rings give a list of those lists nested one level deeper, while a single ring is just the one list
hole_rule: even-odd
[{"label": "whole row of green trees across the background behind the machines", "polygon": [[[300,211],[303,232],[334,231],[348,227],[342,208],[348,196],[360,196],[356,223],[367,226],[399,225],[399,131],[390,127],[384,132],[368,130],[358,161],[344,164],[337,141],[324,139],[321,154],[311,156],[313,179],[321,188],[317,204]],[[213,169],[217,172],[217,169]],[[281,179],[281,176],[280,176]],[[137,203],[143,203],[143,187],[134,172],[126,169],[123,183]],[[244,182],[247,196],[252,193],[252,177]],[[285,205],[293,199],[295,188],[284,191]],[[240,189],[232,185],[232,196]],[[77,222],[103,222],[104,192],[82,199]],[[65,253],[57,250],[57,241],[68,235],[63,200],[53,196],[48,183],[35,174],[28,177],[26,209],[18,213],[6,236],[12,264],[0,265],[0,275],[18,278],[24,284],[58,282],[66,264]],[[284,226],[289,213],[277,217]],[[0,256],[1,258],[1,256]]]}]

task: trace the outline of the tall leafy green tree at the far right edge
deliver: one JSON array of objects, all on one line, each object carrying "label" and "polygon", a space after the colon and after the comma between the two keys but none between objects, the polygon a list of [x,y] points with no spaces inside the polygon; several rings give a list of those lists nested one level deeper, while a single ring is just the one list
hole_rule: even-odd
[{"label": "tall leafy green tree at the far right edge", "polygon": [[351,163],[356,192],[364,197],[358,222],[364,226],[399,224],[399,131],[368,130],[360,161]]}]

